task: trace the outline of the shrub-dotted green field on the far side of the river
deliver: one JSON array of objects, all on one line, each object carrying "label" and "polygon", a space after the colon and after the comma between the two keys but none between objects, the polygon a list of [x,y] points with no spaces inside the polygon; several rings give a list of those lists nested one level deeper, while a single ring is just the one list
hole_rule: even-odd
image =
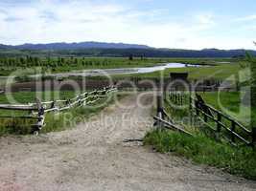
[{"label": "shrub-dotted green field on the far side of the river", "polygon": [[52,58],[0,58],[0,75],[9,75],[17,69],[42,68],[43,71],[63,73],[86,69],[137,68],[162,63],[220,65],[221,62],[237,62],[231,58],[138,58],[128,57],[52,57]]}]

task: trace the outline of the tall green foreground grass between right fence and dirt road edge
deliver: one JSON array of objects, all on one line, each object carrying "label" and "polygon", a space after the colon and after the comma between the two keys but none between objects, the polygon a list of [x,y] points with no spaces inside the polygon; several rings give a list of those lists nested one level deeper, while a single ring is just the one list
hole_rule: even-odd
[{"label": "tall green foreground grass between right fence and dirt road edge", "polygon": [[153,131],[144,138],[161,153],[173,152],[194,162],[216,166],[222,170],[256,180],[256,152],[250,147],[232,147],[198,134],[188,137],[175,132]]}]

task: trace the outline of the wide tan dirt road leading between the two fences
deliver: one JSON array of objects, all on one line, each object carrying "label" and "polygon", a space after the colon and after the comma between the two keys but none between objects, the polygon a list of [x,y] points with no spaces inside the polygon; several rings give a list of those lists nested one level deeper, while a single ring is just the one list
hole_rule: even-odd
[{"label": "wide tan dirt road leading between the two fences", "polygon": [[151,97],[127,96],[71,130],[0,138],[0,190],[256,190],[256,182],[123,142],[151,128]]}]

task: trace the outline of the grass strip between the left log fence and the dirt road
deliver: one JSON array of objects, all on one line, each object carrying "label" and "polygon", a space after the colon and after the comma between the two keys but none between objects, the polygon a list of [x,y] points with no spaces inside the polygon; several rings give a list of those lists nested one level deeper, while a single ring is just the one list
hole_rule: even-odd
[{"label": "grass strip between the left log fence and the dirt road", "polygon": [[[99,100],[90,106],[72,108],[66,112],[49,113],[45,117],[45,126],[41,133],[62,131],[76,127],[76,124],[83,122],[87,118],[98,114],[106,106],[116,99],[121,99],[124,95],[113,94],[107,99]],[[106,101],[107,100],[107,101]],[[34,119],[0,119],[0,136],[6,135],[27,135],[32,133],[32,125],[36,123]]]}]

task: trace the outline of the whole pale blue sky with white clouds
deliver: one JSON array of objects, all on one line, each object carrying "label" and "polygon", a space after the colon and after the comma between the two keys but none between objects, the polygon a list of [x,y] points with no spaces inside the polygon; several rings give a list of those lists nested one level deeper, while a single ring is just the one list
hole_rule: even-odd
[{"label": "whole pale blue sky with white clouds", "polygon": [[255,0],[0,0],[0,44],[254,49]]}]

